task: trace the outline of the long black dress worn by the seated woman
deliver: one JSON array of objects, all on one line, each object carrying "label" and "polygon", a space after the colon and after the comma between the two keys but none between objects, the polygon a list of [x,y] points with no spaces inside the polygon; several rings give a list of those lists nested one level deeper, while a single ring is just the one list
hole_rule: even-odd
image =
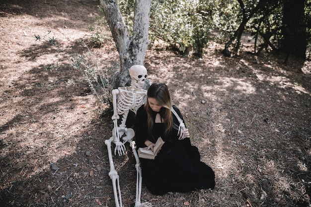
[{"label": "long black dress worn by the seated woman", "polygon": [[[176,106],[173,108],[182,119],[178,108]],[[153,113],[154,122],[156,114],[157,112]],[[177,124],[177,119],[172,116],[173,122]],[[153,136],[149,135],[147,112],[144,106],[137,111],[135,128],[137,149],[146,147],[146,139],[156,143],[158,137],[163,138],[163,123],[154,123]],[[198,148],[191,145],[190,139],[179,140],[177,132],[178,130],[173,129],[169,138],[163,138],[165,143],[154,160],[140,158],[143,183],[151,193],[156,195],[214,189],[215,174],[212,168],[200,161]]]}]

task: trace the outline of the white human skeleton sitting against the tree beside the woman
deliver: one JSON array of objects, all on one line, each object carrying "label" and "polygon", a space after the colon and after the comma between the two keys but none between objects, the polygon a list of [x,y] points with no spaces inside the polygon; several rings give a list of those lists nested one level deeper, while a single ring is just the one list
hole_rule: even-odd
[{"label": "white human skeleton sitting against the tree beside the woman", "polygon": [[[111,119],[113,120],[114,128],[112,130],[112,137],[105,140],[105,144],[108,148],[110,163],[109,177],[112,180],[116,207],[123,207],[119,175],[114,168],[114,163],[112,159],[111,142],[115,143],[116,145],[114,149],[114,154],[116,155],[116,153],[118,153],[119,156],[125,154],[126,149],[124,144],[126,142],[129,142],[136,160],[135,167],[137,171],[137,181],[135,207],[151,207],[151,204],[148,202],[144,204],[141,203],[142,169],[138,154],[135,150],[135,141],[132,140],[132,138],[135,136],[135,133],[133,129],[126,128],[126,120],[129,112],[133,111],[136,114],[139,107],[145,103],[147,91],[142,88],[145,84],[145,80],[147,79],[147,69],[141,65],[134,65],[130,68],[129,71],[132,78],[131,85],[126,87],[119,87],[112,90],[113,116]],[[118,126],[118,120],[120,119],[119,115],[122,115],[122,120],[121,124]]]}]

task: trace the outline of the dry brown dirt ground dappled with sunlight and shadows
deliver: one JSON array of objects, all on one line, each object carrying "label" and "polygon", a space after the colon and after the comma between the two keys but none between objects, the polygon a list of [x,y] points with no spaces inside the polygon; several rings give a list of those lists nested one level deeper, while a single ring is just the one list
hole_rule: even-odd
[{"label": "dry brown dirt ground dappled with sunlight and shadows", "polygon": [[[88,46],[102,68],[118,63],[90,38],[97,0],[0,0],[0,206],[114,207],[104,140],[111,108],[74,69],[71,54]],[[48,32],[50,31],[50,33]],[[57,39],[57,47],[48,40]],[[46,36],[45,36],[46,35]],[[247,40],[244,39],[244,43]],[[250,50],[247,47],[244,51]],[[221,54],[210,42],[203,59],[150,49],[151,82],[168,84],[192,143],[216,174],[214,190],[154,196],[154,207],[310,207],[311,62],[242,52]],[[135,202],[131,149],[114,156],[124,207]]]}]

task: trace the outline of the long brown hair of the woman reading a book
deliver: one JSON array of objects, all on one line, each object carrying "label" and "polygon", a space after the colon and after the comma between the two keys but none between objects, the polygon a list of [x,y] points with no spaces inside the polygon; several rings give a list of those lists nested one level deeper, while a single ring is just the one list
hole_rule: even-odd
[{"label": "long brown hair of the woman reading a book", "polygon": [[155,98],[159,105],[161,105],[161,118],[164,123],[164,137],[168,138],[173,128],[173,118],[172,118],[172,101],[168,92],[168,87],[165,83],[153,83],[147,92],[147,101],[145,103],[145,109],[147,111],[148,120],[148,131],[152,136],[152,129],[154,127],[154,118],[152,116],[153,110],[149,105],[148,98]]}]

